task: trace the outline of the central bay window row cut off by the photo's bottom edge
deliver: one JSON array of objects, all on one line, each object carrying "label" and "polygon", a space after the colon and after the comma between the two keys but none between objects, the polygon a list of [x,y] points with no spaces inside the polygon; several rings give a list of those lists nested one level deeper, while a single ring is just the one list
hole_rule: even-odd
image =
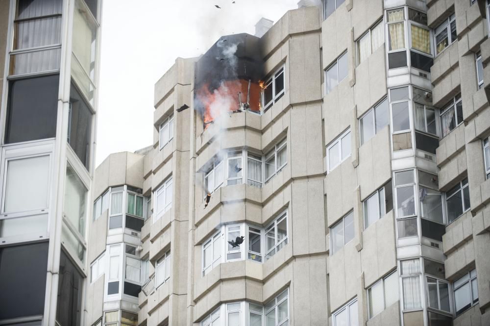
[{"label": "central bay window row cut off by the photo's bottom edge", "polygon": [[247,301],[223,303],[200,322],[200,326],[240,325],[289,325],[289,289],[265,305]]}]

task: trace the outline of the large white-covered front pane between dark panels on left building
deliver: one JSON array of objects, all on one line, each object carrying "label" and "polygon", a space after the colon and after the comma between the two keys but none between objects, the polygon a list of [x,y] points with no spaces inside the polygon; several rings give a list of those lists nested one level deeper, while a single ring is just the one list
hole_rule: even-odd
[{"label": "large white-covered front pane between dark panels on left building", "polygon": [[49,155],[8,160],[3,211],[47,208],[48,187]]}]

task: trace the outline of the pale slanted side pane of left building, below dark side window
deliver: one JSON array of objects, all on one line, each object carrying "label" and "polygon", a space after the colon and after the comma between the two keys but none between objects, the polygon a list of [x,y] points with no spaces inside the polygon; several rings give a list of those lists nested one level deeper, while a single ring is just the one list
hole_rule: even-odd
[{"label": "pale slanted side pane of left building, below dark side window", "polygon": [[63,212],[72,226],[80,233],[85,235],[85,210],[87,188],[75,174],[72,167],[66,167],[65,203]]}]

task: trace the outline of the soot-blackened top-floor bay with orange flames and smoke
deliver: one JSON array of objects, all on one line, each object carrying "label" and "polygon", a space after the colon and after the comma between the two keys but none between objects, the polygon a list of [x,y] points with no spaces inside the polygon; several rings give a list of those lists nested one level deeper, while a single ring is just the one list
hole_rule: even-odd
[{"label": "soot-blackened top-floor bay with orange flames and smoke", "polygon": [[260,113],[263,60],[260,38],[249,34],[221,37],[196,62],[196,110],[204,128],[223,114]]}]

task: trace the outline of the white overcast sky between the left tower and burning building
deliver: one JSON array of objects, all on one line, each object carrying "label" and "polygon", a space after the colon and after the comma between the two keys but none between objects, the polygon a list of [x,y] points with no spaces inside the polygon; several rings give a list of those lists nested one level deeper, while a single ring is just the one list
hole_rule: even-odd
[{"label": "white overcast sky between the left tower and burning building", "polygon": [[154,84],[175,58],[198,56],[222,35],[253,35],[260,18],[277,22],[298,2],[232,1],[104,0],[96,166],[153,143]]}]

